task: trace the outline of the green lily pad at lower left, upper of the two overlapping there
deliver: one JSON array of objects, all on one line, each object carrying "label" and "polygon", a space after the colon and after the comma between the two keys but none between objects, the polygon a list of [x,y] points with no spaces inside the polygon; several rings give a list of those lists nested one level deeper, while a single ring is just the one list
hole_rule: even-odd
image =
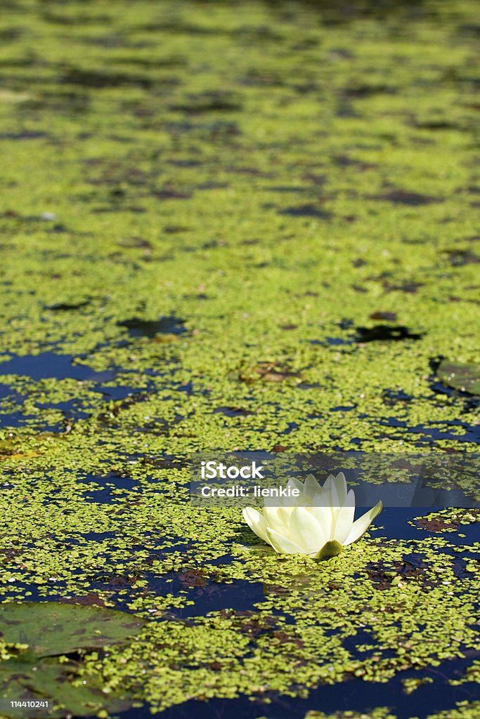
[{"label": "green lily pad at lower left, upper of the two overlapping there", "polygon": [[118,644],[145,624],[112,609],[57,602],[0,605],[0,637],[9,644],[28,644],[37,656],[68,654],[76,649]]}]

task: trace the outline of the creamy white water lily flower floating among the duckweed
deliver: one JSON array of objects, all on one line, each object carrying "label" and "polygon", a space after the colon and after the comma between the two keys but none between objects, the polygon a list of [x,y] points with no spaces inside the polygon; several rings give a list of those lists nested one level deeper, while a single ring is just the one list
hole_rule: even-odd
[{"label": "creamy white water lily flower floating among the duckweed", "polygon": [[288,486],[300,490],[300,495],[286,498],[280,506],[276,500],[276,506],[265,503],[263,510],[243,510],[250,529],[279,554],[335,557],[344,546],[360,539],[381,512],[379,502],[353,521],[355,493],[348,491],[343,472],[336,477],[329,475],[323,486],[313,475],[304,482],[289,480]]}]

